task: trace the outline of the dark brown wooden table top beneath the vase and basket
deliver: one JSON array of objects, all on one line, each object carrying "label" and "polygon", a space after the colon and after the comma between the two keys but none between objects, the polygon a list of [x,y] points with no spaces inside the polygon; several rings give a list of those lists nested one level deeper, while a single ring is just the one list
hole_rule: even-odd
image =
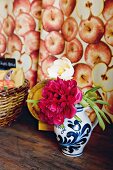
[{"label": "dark brown wooden table top beneath the vase and basket", "polygon": [[97,126],[84,154],[64,156],[53,132],[37,130],[25,108],[10,127],[0,128],[0,170],[113,170],[113,126]]}]

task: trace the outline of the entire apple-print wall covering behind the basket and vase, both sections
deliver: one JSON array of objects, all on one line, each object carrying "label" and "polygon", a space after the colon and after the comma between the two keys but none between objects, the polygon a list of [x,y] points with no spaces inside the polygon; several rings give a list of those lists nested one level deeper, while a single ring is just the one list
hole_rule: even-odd
[{"label": "entire apple-print wall covering behind the basket and vase, both sections", "polygon": [[82,90],[101,87],[113,120],[112,25],[112,0],[0,0],[0,56],[15,58],[31,87],[67,57]]}]

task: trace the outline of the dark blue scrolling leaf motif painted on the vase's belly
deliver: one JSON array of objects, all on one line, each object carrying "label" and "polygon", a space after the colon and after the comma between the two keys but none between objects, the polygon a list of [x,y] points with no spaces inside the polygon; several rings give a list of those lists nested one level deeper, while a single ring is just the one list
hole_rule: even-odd
[{"label": "dark blue scrolling leaf motif painted on the vase's belly", "polygon": [[[65,137],[63,137],[63,135],[58,135],[57,139],[62,150],[68,150],[68,152],[73,153],[75,150],[78,150],[81,145],[87,142],[87,138],[91,132],[91,126],[90,124],[86,123],[82,127],[81,122],[78,120],[75,120],[74,122],[68,120],[67,126],[70,128],[70,131]],[[65,131],[65,127],[62,129],[62,131]]]}]

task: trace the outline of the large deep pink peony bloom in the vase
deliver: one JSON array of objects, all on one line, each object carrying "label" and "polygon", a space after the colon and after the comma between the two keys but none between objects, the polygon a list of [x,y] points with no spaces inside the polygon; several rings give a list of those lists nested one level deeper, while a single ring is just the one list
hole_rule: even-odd
[{"label": "large deep pink peony bloom in the vase", "polygon": [[76,114],[75,104],[82,100],[82,92],[75,80],[49,80],[39,101],[40,120],[48,124],[61,125],[65,118]]}]

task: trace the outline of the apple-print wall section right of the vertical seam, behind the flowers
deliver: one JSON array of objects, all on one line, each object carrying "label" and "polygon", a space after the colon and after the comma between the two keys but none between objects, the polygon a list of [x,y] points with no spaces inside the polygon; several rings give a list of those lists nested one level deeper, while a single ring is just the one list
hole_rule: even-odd
[{"label": "apple-print wall section right of the vertical seam, behind the flowers", "polygon": [[42,1],[38,80],[63,56],[74,66],[73,78],[82,89],[100,86],[113,120],[113,1]]}]

